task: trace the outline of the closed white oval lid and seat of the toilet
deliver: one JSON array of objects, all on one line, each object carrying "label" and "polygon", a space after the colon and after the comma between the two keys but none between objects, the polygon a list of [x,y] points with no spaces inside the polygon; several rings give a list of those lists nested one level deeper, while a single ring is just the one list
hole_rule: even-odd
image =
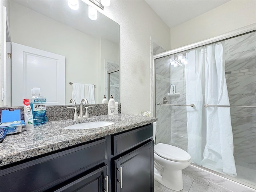
[{"label": "closed white oval lid and seat of the toilet", "polygon": [[164,143],[156,144],[154,146],[154,152],[162,158],[176,162],[188,162],[191,159],[190,154],[186,151]]}]

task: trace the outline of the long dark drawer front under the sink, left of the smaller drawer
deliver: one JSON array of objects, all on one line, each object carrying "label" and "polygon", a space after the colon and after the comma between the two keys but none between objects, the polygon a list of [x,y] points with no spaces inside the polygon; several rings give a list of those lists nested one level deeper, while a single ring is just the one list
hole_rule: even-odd
[{"label": "long dark drawer front under the sink, left of the smaller drawer", "polygon": [[1,170],[1,192],[43,191],[107,158],[106,139],[57,152]]}]

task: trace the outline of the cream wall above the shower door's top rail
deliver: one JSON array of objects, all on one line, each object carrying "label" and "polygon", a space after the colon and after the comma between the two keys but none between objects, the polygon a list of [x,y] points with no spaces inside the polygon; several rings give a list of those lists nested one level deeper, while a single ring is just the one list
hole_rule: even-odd
[{"label": "cream wall above the shower door's top rail", "polygon": [[255,0],[231,0],[171,28],[171,49],[219,36],[256,23]]}]

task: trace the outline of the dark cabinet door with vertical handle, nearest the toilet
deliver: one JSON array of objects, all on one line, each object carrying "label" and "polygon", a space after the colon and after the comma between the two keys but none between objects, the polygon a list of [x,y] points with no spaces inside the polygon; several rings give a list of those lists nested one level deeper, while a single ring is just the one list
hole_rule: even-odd
[{"label": "dark cabinet door with vertical handle, nearest the toilet", "polygon": [[153,141],[115,160],[116,192],[153,192]]}]

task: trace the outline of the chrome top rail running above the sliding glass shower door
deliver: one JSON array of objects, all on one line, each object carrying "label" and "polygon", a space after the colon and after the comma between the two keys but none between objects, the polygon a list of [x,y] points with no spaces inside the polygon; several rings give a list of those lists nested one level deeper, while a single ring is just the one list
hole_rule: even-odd
[{"label": "chrome top rail running above the sliding glass shower door", "polygon": [[164,57],[164,56],[168,56],[168,55],[175,54],[175,53],[178,53],[178,52],[182,52],[182,51],[186,51],[186,50],[193,49],[193,48],[196,48],[196,47],[204,46],[204,45],[207,45],[207,44],[212,44],[214,42],[222,41],[222,40],[232,38],[234,36],[242,35],[244,33],[248,33],[248,32],[254,31],[254,30],[256,30],[256,24],[255,23],[250,24],[250,25],[245,26],[245,27],[242,27],[242,28],[239,28],[239,29],[236,29],[236,30],[232,30],[231,32],[224,33],[224,34],[222,34],[220,36],[216,36],[214,38],[210,38],[210,39],[203,40],[203,41],[200,41],[200,42],[197,42],[197,43],[189,44],[189,45],[182,46],[182,47],[179,47],[179,48],[176,48],[176,49],[173,49],[173,50],[162,52],[160,54],[156,54],[156,55],[153,56],[153,59],[161,58],[161,57]]}]

